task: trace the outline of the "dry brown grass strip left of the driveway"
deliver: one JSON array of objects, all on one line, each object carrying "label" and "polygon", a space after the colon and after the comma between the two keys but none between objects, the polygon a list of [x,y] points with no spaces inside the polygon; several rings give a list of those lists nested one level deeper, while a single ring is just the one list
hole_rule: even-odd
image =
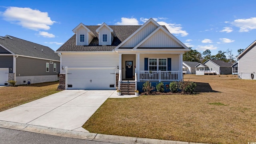
[{"label": "dry brown grass strip left of the driveway", "polygon": [[1,87],[0,112],[59,92],[56,91],[58,83],[59,82],[57,81],[31,85],[21,85],[17,87]]}]

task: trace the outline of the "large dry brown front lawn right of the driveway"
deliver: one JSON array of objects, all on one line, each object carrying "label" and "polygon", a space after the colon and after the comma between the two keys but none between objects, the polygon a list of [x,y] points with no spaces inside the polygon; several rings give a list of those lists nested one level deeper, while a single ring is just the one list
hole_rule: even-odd
[{"label": "large dry brown front lawn right of the driveway", "polygon": [[90,132],[213,144],[256,142],[256,81],[185,75],[194,95],[109,98],[84,124]]}]

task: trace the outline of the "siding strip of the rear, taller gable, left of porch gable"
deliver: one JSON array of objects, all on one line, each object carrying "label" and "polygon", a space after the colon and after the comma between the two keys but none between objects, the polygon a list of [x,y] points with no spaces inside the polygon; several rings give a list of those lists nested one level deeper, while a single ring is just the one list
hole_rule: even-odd
[{"label": "siding strip of the rear, taller gable, left of porch gable", "polygon": [[144,40],[149,34],[156,30],[157,26],[152,22],[148,23],[144,28],[137,32],[132,38],[125,42],[121,48],[133,48],[142,40]]}]

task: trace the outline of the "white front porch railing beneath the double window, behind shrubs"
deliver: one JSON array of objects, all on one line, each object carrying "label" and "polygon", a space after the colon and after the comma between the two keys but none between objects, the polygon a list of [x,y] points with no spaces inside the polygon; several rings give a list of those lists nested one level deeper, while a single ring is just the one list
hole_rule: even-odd
[{"label": "white front porch railing beneath the double window, behind shrubs", "polygon": [[140,71],[140,80],[180,81],[182,71]]}]

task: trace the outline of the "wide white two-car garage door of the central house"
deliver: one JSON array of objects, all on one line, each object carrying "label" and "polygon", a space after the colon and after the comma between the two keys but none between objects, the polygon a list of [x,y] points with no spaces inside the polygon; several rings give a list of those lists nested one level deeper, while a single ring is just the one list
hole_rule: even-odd
[{"label": "wide white two-car garage door of the central house", "polygon": [[115,68],[66,68],[66,89],[115,90]]}]

